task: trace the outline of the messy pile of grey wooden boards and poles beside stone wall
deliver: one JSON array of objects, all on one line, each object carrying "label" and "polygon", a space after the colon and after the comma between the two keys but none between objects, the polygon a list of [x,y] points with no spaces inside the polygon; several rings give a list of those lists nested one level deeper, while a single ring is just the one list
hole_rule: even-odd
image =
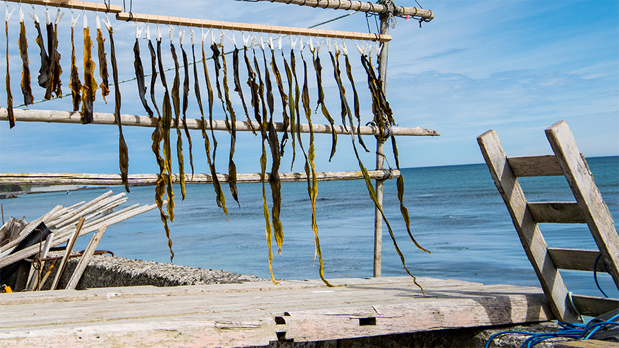
[{"label": "messy pile of grey wooden boards and poles beside stone wall", "polygon": [[[39,260],[45,259],[50,248],[67,243],[65,255],[63,259],[61,259],[60,265],[58,265],[56,276],[52,283],[51,290],[54,290],[58,285],[58,280],[60,279],[64,265],[69,258],[69,254],[72,251],[76,239],[90,232],[98,231],[91,239],[85,252],[83,252],[82,259],[80,259],[76,272],[74,272],[74,276],[72,276],[69,285],[67,285],[67,288],[75,288],[81,274],[85,270],[88,259],[94,254],[95,248],[107,226],[156,208],[155,204],[146,206],[133,204],[127,208],[113,211],[113,208],[127,202],[127,197],[124,197],[125,195],[126,193],[124,192],[113,195],[112,191],[108,191],[87,203],[79,202],[66,208],[58,205],[50,210],[49,213],[39,217],[39,219],[30,221],[30,223],[11,217],[0,228],[0,270],[30,257]],[[49,231],[47,231],[47,236],[43,237],[42,230],[45,229]],[[24,248],[23,241],[32,234],[41,237],[41,241],[37,239],[38,242],[32,243],[33,245]],[[30,238],[32,239],[33,237]],[[22,246],[22,248],[20,248],[20,246]],[[24,272],[23,267],[22,272]],[[25,288],[25,290],[40,290],[41,284],[44,282],[41,281],[41,277],[38,274],[39,270],[35,270],[32,267],[32,263],[28,263],[25,272],[25,274],[28,274],[28,279],[25,281],[24,285],[20,287]],[[6,281],[6,279],[0,279],[0,281]]]}]

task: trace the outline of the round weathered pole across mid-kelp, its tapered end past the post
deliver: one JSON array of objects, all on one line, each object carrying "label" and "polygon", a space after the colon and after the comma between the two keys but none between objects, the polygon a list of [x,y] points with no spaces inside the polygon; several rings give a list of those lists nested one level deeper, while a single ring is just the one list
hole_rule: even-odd
[{"label": "round weathered pole across mid-kelp, its tapered end past the post", "polygon": [[[16,122],[50,122],[50,123],[80,123],[80,113],[73,111],[55,111],[55,110],[27,110],[27,109],[13,109]],[[123,114],[120,116],[123,126],[136,126],[136,127],[155,127],[157,126],[157,118],[150,118],[149,116],[137,116]],[[0,109],[0,121],[8,121],[8,112],[6,109]],[[93,124],[116,124],[113,113],[94,113]],[[181,120],[182,124],[182,120]],[[253,123],[256,129],[259,129],[259,125]],[[237,122],[237,131],[251,131],[251,126],[248,122]],[[175,120],[172,120],[172,127],[176,127]],[[202,120],[195,118],[187,119],[188,129],[202,129]],[[210,130],[210,125],[206,124],[206,129]],[[215,131],[228,131],[226,122],[221,120],[213,120],[213,129]],[[276,131],[283,132],[283,123],[276,122]],[[338,134],[349,134],[343,126],[336,125],[334,127]],[[356,131],[357,127],[353,127]],[[378,127],[361,126],[360,132],[362,135],[379,135]],[[290,131],[290,129],[288,129]],[[309,124],[301,124],[301,133],[310,133]],[[331,134],[331,126],[327,124],[314,124],[314,133],[327,133]],[[420,127],[415,128],[400,128],[393,127],[391,129],[393,135],[410,135],[410,136],[438,136],[439,132],[432,129],[425,129]]]}]

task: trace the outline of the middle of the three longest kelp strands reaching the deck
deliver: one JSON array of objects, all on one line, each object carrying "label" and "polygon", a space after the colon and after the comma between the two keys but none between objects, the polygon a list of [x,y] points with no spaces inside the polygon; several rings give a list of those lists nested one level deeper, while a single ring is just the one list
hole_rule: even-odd
[{"label": "middle of the three longest kelp strands reaching the deck", "polygon": [[[307,174],[307,193],[310,195],[310,202],[312,202],[312,231],[314,231],[314,248],[315,254],[318,255],[318,262],[320,263],[320,268],[318,270],[318,274],[320,274],[321,279],[328,286],[333,286],[327,279],[325,279],[325,271],[323,266],[323,253],[321,252],[321,241],[318,239],[318,224],[316,224],[316,197],[318,197],[318,180],[316,179],[316,165],[315,158],[316,153],[314,151],[314,128],[312,125],[312,107],[310,107],[310,92],[307,87],[307,63],[305,63],[305,58],[303,58],[303,44],[301,44],[301,60],[303,61],[303,92],[301,94],[301,99],[303,100],[303,110],[305,111],[305,118],[307,118],[307,122],[310,124],[310,148],[308,149],[307,160],[305,161],[305,173]],[[299,140],[301,140],[301,136],[299,136]],[[304,152],[305,153],[305,152]],[[309,166],[308,166],[309,164]],[[310,185],[310,168],[312,171],[312,184]],[[315,258],[316,256],[314,256]]]}]

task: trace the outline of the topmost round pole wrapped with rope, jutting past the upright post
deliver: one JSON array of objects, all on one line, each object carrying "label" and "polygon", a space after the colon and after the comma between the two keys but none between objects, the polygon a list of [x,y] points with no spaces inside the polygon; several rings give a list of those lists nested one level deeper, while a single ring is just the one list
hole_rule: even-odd
[{"label": "topmost round pole wrapped with rope, jutting past the upright post", "polygon": [[[256,1],[256,0],[248,0]],[[378,14],[393,13],[394,16],[406,17],[411,16],[416,19],[426,19],[431,21],[434,19],[434,13],[431,10],[422,8],[405,8],[404,6],[387,6],[380,3],[371,3],[369,1],[349,1],[349,0],[259,0],[270,1],[276,3],[294,3],[299,6],[311,6],[313,8],[333,8],[334,10],[351,10],[361,12],[371,12]]]}]

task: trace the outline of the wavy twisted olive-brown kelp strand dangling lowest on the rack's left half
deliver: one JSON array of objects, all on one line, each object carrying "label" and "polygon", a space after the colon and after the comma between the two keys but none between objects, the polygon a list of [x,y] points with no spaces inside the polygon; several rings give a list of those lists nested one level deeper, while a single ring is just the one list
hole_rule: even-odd
[{"label": "wavy twisted olive-brown kelp strand dangling lowest on the rack's left half", "polygon": [[[157,204],[157,208],[159,208],[159,216],[161,222],[164,224],[164,229],[166,231],[166,236],[170,237],[170,228],[168,227],[168,215],[164,213],[163,210],[163,196],[166,191],[166,183],[168,182],[169,174],[166,174],[167,167],[166,161],[161,157],[161,142],[163,140],[163,123],[161,118],[161,113],[159,111],[159,107],[157,106],[157,100],[155,100],[155,83],[157,82],[157,55],[155,54],[155,47],[153,47],[153,43],[151,42],[151,32],[149,27],[146,26],[146,38],[149,41],[149,53],[151,54],[151,102],[153,102],[153,106],[155,107],[155,111],[157,111],[157,125],[155,126],[155,130],[153,131],[153,135],[151,135],[151,139],[153,140],[153,145],[151,149],[155,154],[155,158],[157,160],[157,164],[159,166],[159,177],[157,179],[157,184],[155,185],[155,203]],[[172,253],[173,254],[173,253]]]}]

